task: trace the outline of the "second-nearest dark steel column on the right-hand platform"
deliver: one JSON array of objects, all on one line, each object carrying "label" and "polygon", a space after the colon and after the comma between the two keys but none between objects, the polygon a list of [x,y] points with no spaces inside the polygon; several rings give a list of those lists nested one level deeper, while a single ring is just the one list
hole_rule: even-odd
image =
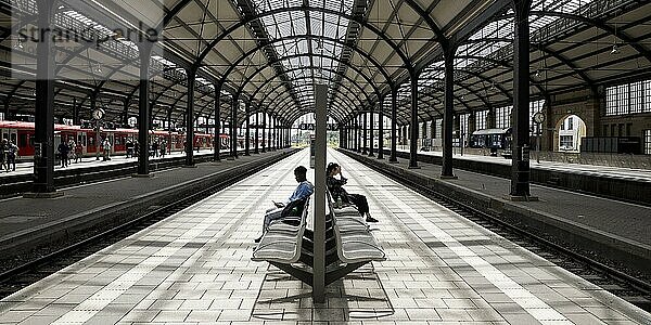
[{"label": "second-nearest dark steel column on the right-hand platform", "polygon": [[[455,114],[455,52],[457,49],[449,48],[445,52],[445,84],[443,112],[443,167],[442,179],[452,179],[452,118]],[[413,132],[411,132],[413,134]]]}]

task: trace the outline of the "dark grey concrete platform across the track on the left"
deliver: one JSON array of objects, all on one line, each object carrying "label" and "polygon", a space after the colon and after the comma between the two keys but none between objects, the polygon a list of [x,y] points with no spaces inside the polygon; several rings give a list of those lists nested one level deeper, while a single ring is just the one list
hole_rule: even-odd
[{"label": "dark grey concrete platform across the track on the left", "polygon": [[278,151],[234,161],[199,164],[196,168],[174,168],[149,178],[123,178],[60,188],[56,198],[14,197],[0,200],[1,259],[73,237],[94,225],[132,220],[151,206],[164,206],[178,197],[213,183],[245,174],[292,151]]}]

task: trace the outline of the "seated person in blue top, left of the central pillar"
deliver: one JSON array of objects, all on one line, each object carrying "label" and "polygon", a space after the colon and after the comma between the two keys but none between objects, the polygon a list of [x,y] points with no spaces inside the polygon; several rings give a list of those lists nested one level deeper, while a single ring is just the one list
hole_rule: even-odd
[{"label": "seated person in blue top, left of the central pillar", "polygon": [[[298,182],[298,186],[296,186],[296,190],[294,190],[294,193],[285,203],[275,202],[276,208],[267,210],[265,222],[263,223],[263,235],[272,221],[289,216],[301,216],[305,200],[315,193],[315,185],[307,180],[307,168],[303,166],[296,167],[294,169],[294,177],[296,178],[296,182]],[[259,243],[261,239],[263,236],[259,236],[255,239],[255,243]]]}]

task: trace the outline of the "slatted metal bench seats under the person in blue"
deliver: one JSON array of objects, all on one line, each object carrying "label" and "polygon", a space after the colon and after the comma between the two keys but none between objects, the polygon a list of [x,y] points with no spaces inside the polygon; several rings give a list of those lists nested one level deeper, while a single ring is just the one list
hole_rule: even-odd
[{"label": "slatted metal bench seats under the person in blue", "polygon": [[[288,217],[288,220],[280,219],[273,221],[253,251],[251,260],[283,264],[297,262],[301,258],[303,234],[307,225],[308,207],[309,198],[305,202],[299,219]],[[294,222],[298,224],[294,225]]]}]

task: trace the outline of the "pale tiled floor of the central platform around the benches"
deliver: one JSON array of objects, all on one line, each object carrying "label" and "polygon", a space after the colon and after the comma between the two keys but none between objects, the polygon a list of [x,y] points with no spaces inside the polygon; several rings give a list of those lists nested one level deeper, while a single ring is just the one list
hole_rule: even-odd
[{"label": "pale tiled floor of the central platform around the benches", "polygon": [[[649,324],[651,315],[336,152],[388,260],[310,288],[250,260],[294,155],[0,301],[0,324]],[[311,171],[308,178],[312,178]]]}]

